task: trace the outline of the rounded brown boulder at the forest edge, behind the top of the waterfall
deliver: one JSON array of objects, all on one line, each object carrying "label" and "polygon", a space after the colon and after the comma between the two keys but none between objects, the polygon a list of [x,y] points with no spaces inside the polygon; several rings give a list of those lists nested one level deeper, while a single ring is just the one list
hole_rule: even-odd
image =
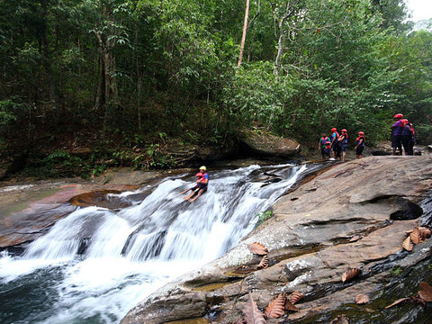
[{"label": "rounded brown boulder at the forest edge, behind the top of the waterfall", "polygon": [[243,131],[239,138],[240,147],[260,157],[295,157],[302,146],[293,139],[285,139],[259,130]]}]

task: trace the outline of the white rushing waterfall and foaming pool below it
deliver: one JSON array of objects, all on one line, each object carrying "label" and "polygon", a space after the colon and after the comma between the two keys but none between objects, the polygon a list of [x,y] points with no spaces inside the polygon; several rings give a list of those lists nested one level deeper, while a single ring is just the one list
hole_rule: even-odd
[{"label": "white rushing waterfall and foaming pool below it", "polygon": [[3,253],[0,322],[118,323],[167,281],[238,244],[259,212],[307,170],[284,165],[211,172],[208,192],[193,203],[180,194],[193,176],[169,177],[128,208],[77,209],[23,256]]}]

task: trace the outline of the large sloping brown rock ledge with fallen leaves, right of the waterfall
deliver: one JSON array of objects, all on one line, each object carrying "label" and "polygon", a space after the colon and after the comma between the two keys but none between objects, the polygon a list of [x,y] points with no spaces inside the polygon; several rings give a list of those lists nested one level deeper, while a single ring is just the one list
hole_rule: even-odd
[{"label": "large sloping brown rock ledge with fallen leaves, right of the waterfall", "polygon": [[[357,293],[372,293],[390,276],[388,268],[376,270],[377,265],[401,252],[405,232],[422,212],[417,203],[431,185],[431,157],[366,157],[336,164],[276,202],[275,216],[238,247],[151,294],[121,324],[210,322],[204,316],[233,323],[241,319],[249,292],[263,310],[278,293],[294,291],[306,296],[300,311],[277,322],[314,322],[313,316],[352,303]],[[350,242],[357,235],[361,239]],[[429,257],[431,241],[402,254],[401,264]],[[236,271],[257,269],[259,259],[247,249],[252,242],[268,248],[270,266]],[[361,267],[363,275],[343,284],[348,266]]]}]

